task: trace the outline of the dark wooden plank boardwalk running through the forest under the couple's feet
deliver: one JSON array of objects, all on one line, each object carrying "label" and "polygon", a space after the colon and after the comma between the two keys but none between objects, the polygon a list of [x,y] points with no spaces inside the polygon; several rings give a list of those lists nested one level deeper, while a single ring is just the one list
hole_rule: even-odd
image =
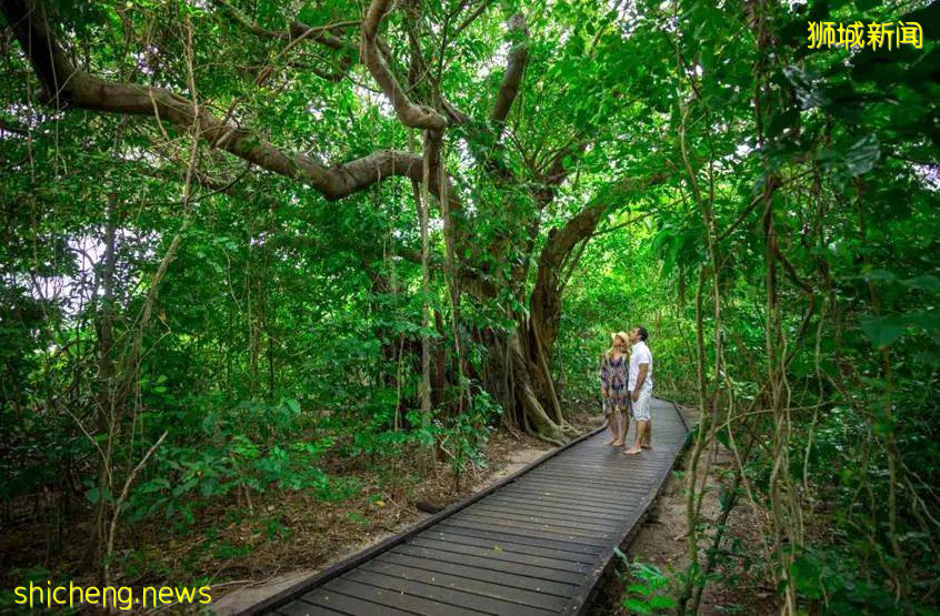
[{"label": "dark wooden plank boardwalk running through the forest under the couple's feet", "polygon": [[579,614],[686,441],[672,403],[653,400],[652,420],[652,451],[594,431],[243,614]]}]

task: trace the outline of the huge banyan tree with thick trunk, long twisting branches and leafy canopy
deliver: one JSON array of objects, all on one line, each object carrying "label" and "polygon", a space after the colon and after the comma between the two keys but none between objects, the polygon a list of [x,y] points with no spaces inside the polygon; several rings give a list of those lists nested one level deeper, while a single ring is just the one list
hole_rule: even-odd
[{"label": "huge banyan tree with thick trunk, long twisting branches and leafy canopy", "polygon": [[[664,114],[624,85],[636,78],[642,88],[636,23],[602,3],[296,4],[3,0],[2,9],[41,87],[34,99],[84,112],[90,128],[99,114],[127,118],[160,139],[164,162],[177,161],[176,172],[160,166],[167,181],[219,192],[238,190],[246,173],[280,176],[332,208],[401,183],[423,243],[398,246],[397,257],[422,264],[426,290],[431,275],[446,281],[452,324],[426,306],[424,325],[452,335],[449,357],[427,335],[423,349],[399,350],[421,357],[422,406],[432,374],[436,391],[470,377],[516,425],[563,441],[550,371],[563,286],[599,223],[668,171],[649,144]],[[376,111],[366,134],[343,117],[351,99]],[[192,162],[176,139],[186,135],[211,155]],[[227,156],[246,164],[238,176]],[[489,306],[504,325],[464,322],[469,305]],[[486,346],[482,370],[454,359],[461,340]]]}]

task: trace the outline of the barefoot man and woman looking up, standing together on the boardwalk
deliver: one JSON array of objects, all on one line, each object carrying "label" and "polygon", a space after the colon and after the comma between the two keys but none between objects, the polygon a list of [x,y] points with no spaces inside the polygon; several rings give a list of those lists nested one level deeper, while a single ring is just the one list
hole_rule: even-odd
[{"label": "barefoot man and woman looking up, standing together on the boardwalk", "polygon": [[[611,347],[603,354],[600,365],[601,397],[607,425],[613,435],[608,445],[626,444],[630,415],[637,422],[637,440],[626,454],[638,454],[652,448],[650,431],[650,398],[652,397],[652,353],[647,346],[647,330],[633,327],[630,333],[610,334]],[[627,349],[630,347],[628,353]],[[621,421],[622,414],[622,421]]]}]

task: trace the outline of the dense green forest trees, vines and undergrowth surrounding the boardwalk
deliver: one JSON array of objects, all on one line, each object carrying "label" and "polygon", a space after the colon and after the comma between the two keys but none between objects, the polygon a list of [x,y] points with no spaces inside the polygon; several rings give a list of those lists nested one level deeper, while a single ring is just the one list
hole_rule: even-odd
[{"label": "dense green forest trees, vines and undergrowth surrounding the boardwalk", "polygon": [[[741,501],[787,613],[938,603],[936,6],[2,7],[0,497],[48,554],[139,579],[126,527],[561,442],[642,324],[700,411],[679,609]],[[807,48],[857,19],[923,47]]]}]

